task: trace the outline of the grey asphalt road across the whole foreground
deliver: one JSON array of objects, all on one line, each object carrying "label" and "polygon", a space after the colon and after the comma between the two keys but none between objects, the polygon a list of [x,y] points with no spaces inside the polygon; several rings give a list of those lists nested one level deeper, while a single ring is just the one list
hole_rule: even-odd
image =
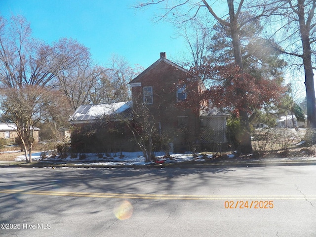
[{"label": "grey asphalt road across the whole foreground", "polygon": [[0,169],[1,237],[316,237],[316,166]]}]

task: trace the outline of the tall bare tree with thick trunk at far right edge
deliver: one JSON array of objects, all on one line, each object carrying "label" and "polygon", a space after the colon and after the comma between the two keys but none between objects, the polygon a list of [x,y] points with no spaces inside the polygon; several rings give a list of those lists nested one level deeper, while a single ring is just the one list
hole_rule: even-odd
[{"label": "tall bare tree with thick trunk at far right edge", "polygon": [[[316,53],[316,0],[277,0],[272,2],[274,11],[269,20],[273,24],[273,44],[294,60],[293,65],[303,65],[307,96],[308,126],[316,128],[316,101],[313,55]],[[277,22],[278,24],[275,24]],[[278,26],[276,28],[276,26]],[[314,58],[315,60],[316,58]],[[314,65],[314,66],[313,66]]]}]

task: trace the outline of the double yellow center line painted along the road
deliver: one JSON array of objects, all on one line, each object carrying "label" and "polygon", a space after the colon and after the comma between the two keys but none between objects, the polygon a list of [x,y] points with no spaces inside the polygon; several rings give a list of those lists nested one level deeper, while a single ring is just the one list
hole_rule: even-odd
[{"label": "double yellow center line painted along the road", "polygon": [[103,197],[103,198],[135,198],[135,199],[189,199],[189,200],[316,200],[316,196],[304,195],[164,195],[164,194],[119,194],[119,193],[81,193],[61,191],[40,191],[21,189],[2,189],[6,194],[33,194],[49,196]]}]

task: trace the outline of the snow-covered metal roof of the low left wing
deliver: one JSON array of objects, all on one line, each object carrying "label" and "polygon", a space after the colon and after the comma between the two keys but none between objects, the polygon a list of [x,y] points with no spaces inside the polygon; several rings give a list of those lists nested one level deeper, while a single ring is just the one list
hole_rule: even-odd
[{"label": "snow-covered metal roof of the low left wing", "polygon": [[103,116],[111,116],[125,112],[132,107],[132,101],[101,105],[81,105],[70,117],[70,122],[89,121]]}]

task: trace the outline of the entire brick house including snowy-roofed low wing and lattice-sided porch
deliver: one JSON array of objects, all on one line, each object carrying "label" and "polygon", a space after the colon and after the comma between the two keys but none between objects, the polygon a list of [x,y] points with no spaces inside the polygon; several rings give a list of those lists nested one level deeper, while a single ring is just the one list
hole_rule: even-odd
[{"label": "entire brick house including snowy-roofed low wing and lattice-sided porch", "polygon": [[[166,59],[165,53],[160,53],[160,58],[129,84],[132,102],[81,106],[71,116],[71,123],[77,127],[81,126],[79,131],[82,131],[87,130],[87,124],[99,118],[111,118],[111,114],[115,113],[126,113],[132,120],[132,113],[137,113],[139,106],[146,106],[153,115],[157,134],[168,138],[173,151],[188,151],[196,147],[209,149],[214,148],[214,144],[224,146],[227,143],[226,118],[229,115],[216,109],[202,108],[201,106],[207,103],[192,99],[205,89],[203,82],[191,77],[186,69]],[[192,100],[190,106],[183,106],[183,102],[189,98]],[[136,120],[133,122],[137,124]],[[114,121],[108,124],[118,129],[118,124]],[[111,130],[111,126],[107,129]],[[121,132],[128,134],[124,127]],[[96,136],[94,133],[94,138]],[[120,142],[120,145],[123,145],[122,150],[130,150],[130,140],[126,135],[126,143]],[[72,143],[73,141],[75,142],[72,138]],[[81,144],[80,147],[82,146],[85,145]]]}]

